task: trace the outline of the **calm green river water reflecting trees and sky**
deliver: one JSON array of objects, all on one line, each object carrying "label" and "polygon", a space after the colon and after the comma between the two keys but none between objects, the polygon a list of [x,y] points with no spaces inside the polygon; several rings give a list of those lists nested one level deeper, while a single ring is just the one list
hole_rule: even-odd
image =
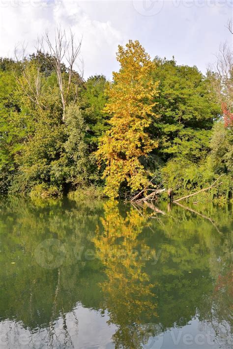
[{"label": "calm green river water reflecting trees and sky", "polygon": [[232,348],[229,206],[0,202],[0,348]]}]

